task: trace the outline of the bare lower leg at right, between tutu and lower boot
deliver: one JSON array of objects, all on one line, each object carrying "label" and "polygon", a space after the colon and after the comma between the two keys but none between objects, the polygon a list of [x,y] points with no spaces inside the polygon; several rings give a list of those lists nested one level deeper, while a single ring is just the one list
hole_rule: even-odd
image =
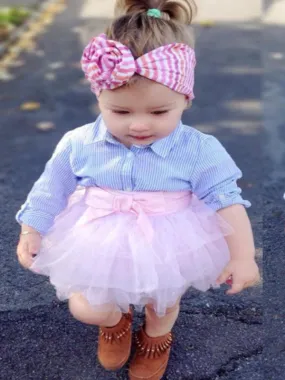
[{"label": "bare lower leg at right, between tutu and lower boot", "polygon": [[169,333],[180,311],[180,299],[173,307],[166,310],[166,314],[163,317],[158,317],[154,311],[152,305],[147,305],[145,310],[146,325],[145,332],[149,337],[159,337]]}]

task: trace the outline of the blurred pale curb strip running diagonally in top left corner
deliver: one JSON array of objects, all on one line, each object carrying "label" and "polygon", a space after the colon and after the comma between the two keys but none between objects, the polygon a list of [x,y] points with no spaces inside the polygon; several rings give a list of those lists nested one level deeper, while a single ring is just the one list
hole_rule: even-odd
[{"label": "blurred pale curb strip running diagonally in top left corner", "polygon": [[[7,53],[9,47],[20,39],[22,33],[27,31],[33,22],[37,21],[37,19],[46,10],[46,8],[56,3],[58,3],[58,0],[46,0],[39,6],[38,9],[32,12],[31,16],[28,17],[27,20],[19,28],[16,28],[5,42],[0,44],[0,59]],[[35,2],[34,6],[37,6],[39,4],[40,1],[37,1]]]}]

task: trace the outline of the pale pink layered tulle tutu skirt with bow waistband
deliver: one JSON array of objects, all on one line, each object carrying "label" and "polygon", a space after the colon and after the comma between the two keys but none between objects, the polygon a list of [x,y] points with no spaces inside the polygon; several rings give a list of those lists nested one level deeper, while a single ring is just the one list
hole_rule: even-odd
[{"label": "pale pink layered tulle tutu skirt with bow waistband", "polygon": [[164,315],[189,287],[206,291],[229,261],[231,228],[190,192],[78,188],[43,238],[31,270],[61,300],[153,304]]}]

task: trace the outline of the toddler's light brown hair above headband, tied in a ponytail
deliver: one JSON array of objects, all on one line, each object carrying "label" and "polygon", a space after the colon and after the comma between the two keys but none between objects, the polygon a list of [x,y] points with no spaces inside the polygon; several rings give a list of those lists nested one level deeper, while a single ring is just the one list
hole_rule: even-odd
[{"label": "toddler's light brown hair above headband, tied in a ponytail", "polygon": [[[152,8],[161,11],[161,18],[148,16]],[[196,10],[194,0],[116,0],[116,18],[106,34],[128,46],[135,58],[176,42],[193,47],[189,25]]]}]

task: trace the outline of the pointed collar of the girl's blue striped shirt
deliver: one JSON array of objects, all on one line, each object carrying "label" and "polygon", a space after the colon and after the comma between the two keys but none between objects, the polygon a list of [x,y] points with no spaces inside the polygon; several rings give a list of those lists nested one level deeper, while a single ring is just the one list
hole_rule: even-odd
[{"label": "pointed collar of the girl's blue striped shirt", "polygon": [[[153,144],[146,148],[152,149],[154,153],[165,158],[173,146],[175,145],[182,130],[182,122],[180,121],[177,128],[167,137],[155,141]],[[95,132],[96,131],[96,132]],[[104,120],[100,115],[94,124],[92,143],[108,141],[112,144],[120,144],[107,130]]]}]

